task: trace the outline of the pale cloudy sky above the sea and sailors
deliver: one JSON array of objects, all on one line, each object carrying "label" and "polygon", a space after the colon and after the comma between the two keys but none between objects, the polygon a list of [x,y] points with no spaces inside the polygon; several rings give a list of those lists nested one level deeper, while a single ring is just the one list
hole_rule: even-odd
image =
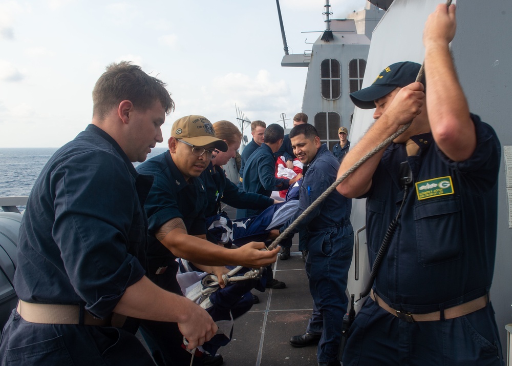
[{"label": "pale cloudy sky above the sea and sailors", "polygon": [[[325,0],[280,0],[289,53],[325,29]],[[331,0],[332,18],[366,0]],[[318,31],[318,32],[314,32]],[[0,148],[60,147],[92,119],[105,66],[129,60],[167,84],[176,109],[162,127],[199,114],[287,127],[301,111],[307,68],[282,67],[273,0],[0,0]]]}]

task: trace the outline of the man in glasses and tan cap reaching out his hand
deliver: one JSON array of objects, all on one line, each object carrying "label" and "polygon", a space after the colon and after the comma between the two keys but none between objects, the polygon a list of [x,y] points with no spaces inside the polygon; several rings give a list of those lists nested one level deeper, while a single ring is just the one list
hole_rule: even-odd
[{"label": "man in glasses and tan cap reaching out his hand", "polygon": [[[225,141],[216,137],[210,121],[199,115],[178,119],[168,147],[165,153],[137,167],[139,173],[155,176],[144,204],[149,223],[148,277],[158,286],[181,294],[176,280],[177,257],[194,262],[202,271],[220,278],[226,265],[259,268],[274,262],[279,249],[260,251],[265,247],[262,242],[226,249],[205,240],[207,200],[199,175],[216,150],[228,149]],[[183,336],[176,323],[144,322],[141,333],[158,364],[190,363],[190,354],[181,348]]]}]

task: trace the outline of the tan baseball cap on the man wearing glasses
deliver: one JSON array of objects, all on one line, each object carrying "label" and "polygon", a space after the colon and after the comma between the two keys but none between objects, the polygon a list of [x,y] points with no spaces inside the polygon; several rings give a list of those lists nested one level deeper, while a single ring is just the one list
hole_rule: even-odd
[{"label": "tan baseball cap on the man wearing glasses", "polygon": [[182,139],[194,146],[206,146],[215,144],[214,147],[220,151],[227,151],[227,144],[224,140],[217,138],[214,127],[206,117],[189,115],[176,120],[170,135]]}]

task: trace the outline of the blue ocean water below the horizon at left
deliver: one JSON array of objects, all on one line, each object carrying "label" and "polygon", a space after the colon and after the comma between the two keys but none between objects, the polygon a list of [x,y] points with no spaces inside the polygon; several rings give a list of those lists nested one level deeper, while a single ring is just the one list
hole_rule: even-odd
[{"label": "blue ocean water below the horizon at left", "polygon": [[[147,158],[163,153],[155,148]],[[0,148],[0,197],[28,196],[35,180],[57,148]],[[137,166],[140,163],[135,163]]]}]

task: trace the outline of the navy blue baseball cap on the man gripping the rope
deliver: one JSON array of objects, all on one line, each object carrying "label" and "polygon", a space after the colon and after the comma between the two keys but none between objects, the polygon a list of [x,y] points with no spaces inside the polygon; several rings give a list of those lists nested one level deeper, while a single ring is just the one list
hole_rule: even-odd
[{"label": "navy blue baseball cap on the man gripping the rope", "polygon": [[411,61],[398,62],[382,70],[372,85],[350,94],[352,102],[361,109],[375,108],[374,100],[416,81],[420,64]]}]

